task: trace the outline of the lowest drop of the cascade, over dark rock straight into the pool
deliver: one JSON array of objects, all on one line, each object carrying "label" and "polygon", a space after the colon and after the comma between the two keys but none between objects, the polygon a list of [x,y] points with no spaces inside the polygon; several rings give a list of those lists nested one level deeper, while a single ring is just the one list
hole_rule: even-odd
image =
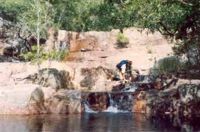
[{"label": "lowest drop of the cascade, over dark rock straight into the pool", "polygon": [[126,113],[133,108],[132,92],[92,92],[87,93],[84,111],[87,113],[111,112]]}]

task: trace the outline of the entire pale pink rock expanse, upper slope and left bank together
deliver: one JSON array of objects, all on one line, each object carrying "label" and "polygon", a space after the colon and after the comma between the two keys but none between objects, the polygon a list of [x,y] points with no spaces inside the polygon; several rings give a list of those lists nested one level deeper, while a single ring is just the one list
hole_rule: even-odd
[{"label": "entire pale pink rock expanse, upper slope and left bank together", "polygon": [[[40,75],[39,82],[27,82],[27,77],[38,73],[37,66],[29,62],[0,63],[0,114],[80,113],[80,98],[73,99],[76,95],[72,93],[76,92],[69,91],[111,91],[113,85],[119,82],[111,81],[110,77],[115,74],[115,66],[122,59],[132,60],[134,69],[147,74],[155,58],[171,54],[171,45],[159,33],[147,34],[147,31],[138,30],[124,30],[129,45],[123,49],[116,46],[118,30],[84,33],[59,31],[57,38],[53,38],[55,40],[47,40],[55,42],[52,47],[69,44],[70,52],[65,61],[46,61],[40,65],[40,69],[66,71],[68,77],[65,81],[69,83],[64,82],[67,84],[64,88],[61,85],[58,85],[59,89],[53,88],[57,87],[57,83],[61,84],[58,81],[60,75]],[[1,43],[2,50],[4,43]]]}]

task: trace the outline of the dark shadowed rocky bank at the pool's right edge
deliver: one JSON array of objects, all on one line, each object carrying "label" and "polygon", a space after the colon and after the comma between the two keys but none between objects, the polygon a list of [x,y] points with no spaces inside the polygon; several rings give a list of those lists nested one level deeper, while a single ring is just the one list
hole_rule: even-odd
[{"label": "dark shadowed rocky bank at the pool's right edge", "polygon": [[[157,96],[147,92],[147,107],[151,117],[181,125],[193,123],[200,117],[200,85],[185,83],[174,88],[157,91]],[[154,94],[155,95],[155,94]]]}]

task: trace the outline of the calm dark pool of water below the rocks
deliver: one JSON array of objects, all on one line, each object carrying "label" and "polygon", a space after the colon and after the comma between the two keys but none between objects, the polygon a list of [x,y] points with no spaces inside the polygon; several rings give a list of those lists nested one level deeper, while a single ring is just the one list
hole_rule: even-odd
[{"label": "calm dark pool of water below the rocks", "polygon": [[[182,131],[193,131],[192,129]],[[0,132],[176,132],[167,123],[153,123],[131,113],[82,115],[0,116]]]}]

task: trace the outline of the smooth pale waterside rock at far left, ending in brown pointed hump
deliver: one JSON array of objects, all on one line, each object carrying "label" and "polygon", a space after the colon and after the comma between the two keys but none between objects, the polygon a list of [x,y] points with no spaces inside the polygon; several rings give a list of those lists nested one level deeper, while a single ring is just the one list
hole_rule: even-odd
[{"label": "smooth pale waterside rock at far left, ending in brown pointed hump", "polygon": [[45,113],[44,95],[42,88],[33,84],[0,88],[0,114]]}]

